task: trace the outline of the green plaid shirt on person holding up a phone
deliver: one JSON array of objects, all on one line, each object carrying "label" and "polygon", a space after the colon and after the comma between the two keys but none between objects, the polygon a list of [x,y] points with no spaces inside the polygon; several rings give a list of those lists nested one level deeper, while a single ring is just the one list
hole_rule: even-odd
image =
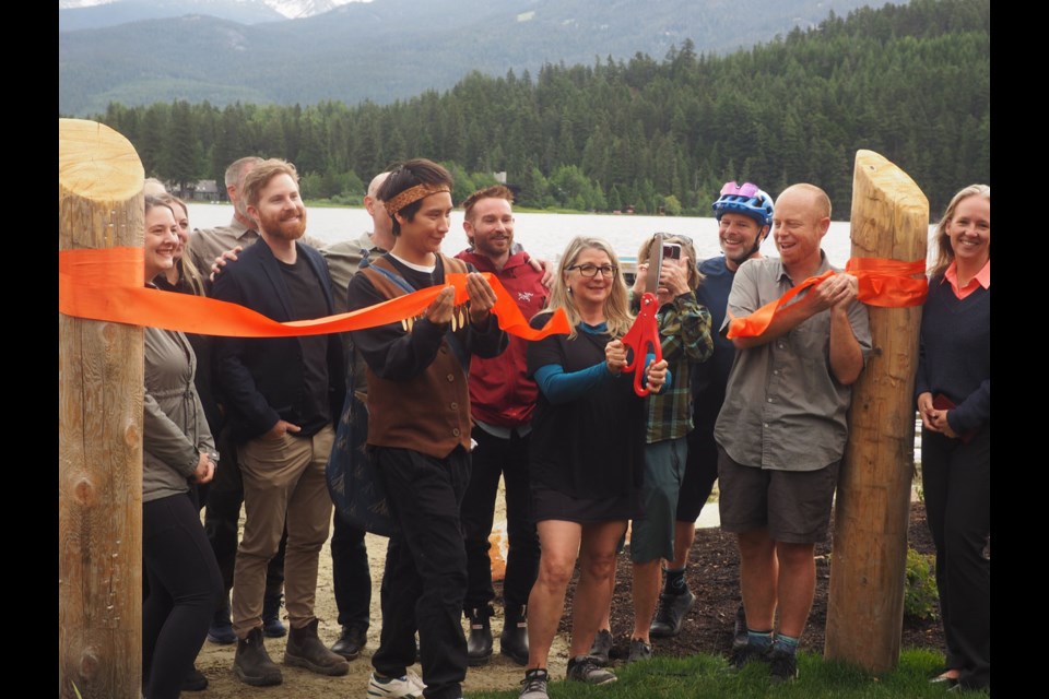
[{"label": "green plaid shirt on person holding up a phone", "polygon": [[[633,296],[633,295],[632,295]],[[636,308],[639,300],[630,298]],[[692,381],[688,365],[706,362],[714,353],[710,339],[710,311],[700,306],[692,292],[664,305],[656,315],[662,339],[663,359],[673,383],[645,399],[648,415],[645,441],[649,445],[677,439],[692,431]]]}]

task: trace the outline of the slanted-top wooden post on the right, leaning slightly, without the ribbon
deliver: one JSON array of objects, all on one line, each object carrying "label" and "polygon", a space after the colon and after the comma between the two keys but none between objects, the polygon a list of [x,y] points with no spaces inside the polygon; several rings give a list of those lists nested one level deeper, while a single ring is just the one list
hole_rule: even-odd
[{"label": "slanted-top wooden post on the right, leaning slightly, without the ribbon", "polygon": [[[877,153],[858,151],[852,257],[924,260],[928,237],[929,201],[914,180]],[[882,673],[899,660],[903,630],[921,308],[869,311],[874,348],[852,388],[825,654]]]}]

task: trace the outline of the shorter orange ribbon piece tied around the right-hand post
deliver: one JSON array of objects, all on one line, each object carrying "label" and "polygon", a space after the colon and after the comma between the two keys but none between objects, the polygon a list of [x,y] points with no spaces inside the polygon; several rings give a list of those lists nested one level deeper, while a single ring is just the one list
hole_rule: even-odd
[{"label": "shorter orange ribbon piece tied around the right-hand post", "polygon": [[[868,306],[881,308],[906,308],[921,306],[929,293],[929,283],[924,277],[926,261],[900,262],[879,258],[852,258],[845,265],[842,274],[851,274],[859,282],[857,298]],[[750,316],[732,318],[729,323],[729,340],[734,337],[757,337],[764,333],[773,318],[795,296],[813,287],[825,279],[838,274],[827,270],[820,276],[810,276],[770,304],[765,304]],[[920,279],[912,275],[920,274]]]}]

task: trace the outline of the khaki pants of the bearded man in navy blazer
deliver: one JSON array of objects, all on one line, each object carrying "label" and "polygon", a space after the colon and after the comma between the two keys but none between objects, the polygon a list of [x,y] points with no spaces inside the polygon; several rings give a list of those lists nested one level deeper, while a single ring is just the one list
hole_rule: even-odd
[{"label": "khaki pants of the bearded man in navy blazer", "polygon": [[287,519],[284,599],[293,628],[314,620],[317,565],[331,530],[331,498],[325,465],[334,430],[313,437],[260,437],[240,446],[244,537],[233,576],[233,630],[245,638],[262,626],[266,567],[276,554]]}]

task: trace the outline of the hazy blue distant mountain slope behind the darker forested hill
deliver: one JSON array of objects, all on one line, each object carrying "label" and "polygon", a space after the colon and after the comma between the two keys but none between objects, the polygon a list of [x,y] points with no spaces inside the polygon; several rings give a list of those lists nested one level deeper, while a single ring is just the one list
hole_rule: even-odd
[{"label": "hazy blue distant mountain slope behind the darker forested hill", "polygon": [[59,32],[58,108],[85,115],[109,102],[172,99],[388,104],[448,90],[471,70],[534,74],[545,62],[660,57],[686,38],[723,54],[870,1],[374,0],[249,26],[208,16],[198,0],[201,9],[185,16]]}]

